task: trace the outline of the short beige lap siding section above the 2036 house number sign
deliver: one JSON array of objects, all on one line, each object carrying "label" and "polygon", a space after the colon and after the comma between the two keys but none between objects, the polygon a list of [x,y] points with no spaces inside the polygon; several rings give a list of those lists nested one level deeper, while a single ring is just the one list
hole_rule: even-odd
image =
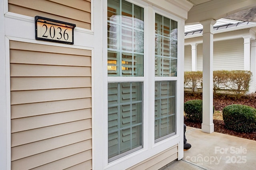
[{"label": "short beige lap siding section above the 2036 house number sign", "polygon": [[91,0],[8,0],[8,10],[69,22],[91,30]]}]

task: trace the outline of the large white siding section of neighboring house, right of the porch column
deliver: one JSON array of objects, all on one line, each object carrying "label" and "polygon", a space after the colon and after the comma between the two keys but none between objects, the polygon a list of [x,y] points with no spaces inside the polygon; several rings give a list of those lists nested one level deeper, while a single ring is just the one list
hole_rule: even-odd
[{"label": "large white siding section of neighboring house, right of the porch column", "polygon": [[213,70],[244,70],[244,39],[214,42]]}]

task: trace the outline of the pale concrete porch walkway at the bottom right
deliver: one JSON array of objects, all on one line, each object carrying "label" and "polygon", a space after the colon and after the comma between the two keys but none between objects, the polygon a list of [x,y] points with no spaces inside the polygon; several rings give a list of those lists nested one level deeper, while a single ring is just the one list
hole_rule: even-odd
[{"label": "pale concrete porch walkway at the bottom right", "polygon": [[182,160],[163,170],[254,170],[256,141],[227,134],[202,132],[187,127],[186,138],[192,145]]}]

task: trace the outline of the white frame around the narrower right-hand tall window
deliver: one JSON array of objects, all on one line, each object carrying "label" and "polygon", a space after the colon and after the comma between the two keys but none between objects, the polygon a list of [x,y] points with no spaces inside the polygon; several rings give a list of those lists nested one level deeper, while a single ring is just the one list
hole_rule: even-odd
[{"label": "white frame around the narrower right-hand tall window", "polygon": [[[150,83],[155,83],[156,81],[176,81],[176,134],[174,134],[173,136],[168,136],[167,137],[162,137],[159,138],[157,140],[155,139],[151,139],[152,140],[152,147],[159,147],[160,145],[166,143],[166,142],[170,142],[172,140],[174,140],[175,138],[177,138],[178,136],[180,136],[181,132],[182,132],[182,138],[183,138],[183,131],[181,131],[180,127],[178,127],[179,125],[183,126],[184,123],[184,116],[183,116],[183,102],[184,101],[184,91],[183,91],[183,85],[184,85],[184,39],[182,39],[182,36],[184,36],[184,32],[182,31],[182,29],[184,30],[184,23],[182,22],[182,19],[179,18],[178,16],[175,16],[173,14],[170,14],[164,10],[161,10],[155,6],[152,7],[153,8],[153,14],[152,14],[152,23],[155,24],[155,15],[159,14],[162,15],[166,18],[169,18],[171,20],[174,20],[177,22],[177,28],[178,28],[178,42],[177,42],[177,74],[176,76],[172,76],[172,77],[156,77],[155,76],[155,72],[153,72],[151,74],[152,77],[154,77],[154,81],[151,81]],[[152,28],[152,32],[155,35],[155,25]],[[152,40],[152,45],[153,47],[155,47],[155,41]],[[183,45],[183,46],[182,46]],[[183,47],[183,48],[182,48]],[[152,50],[152,60],[154,60],[155,58],[155,51]],[[151,67],[155,68],[155,62],[152,61],[151,63]],[[154,89],[154,87],[152,88]],[[151,89],[151,90],[152,90]],[[155,89],[154,89],[155,90]],[[153,96],[153,99],[155,99],[155,96]],[[155,106],[155,103],[153,102],[151,104],[151,110],[154,108],[152,107]],[[151,123],[154,125],[154,117],[151,117]],[[154,135],[153,135],[154,137]],[[182,143],[183,144],[183,143]],[[183,147],[183,145],[182,145]]]}]

